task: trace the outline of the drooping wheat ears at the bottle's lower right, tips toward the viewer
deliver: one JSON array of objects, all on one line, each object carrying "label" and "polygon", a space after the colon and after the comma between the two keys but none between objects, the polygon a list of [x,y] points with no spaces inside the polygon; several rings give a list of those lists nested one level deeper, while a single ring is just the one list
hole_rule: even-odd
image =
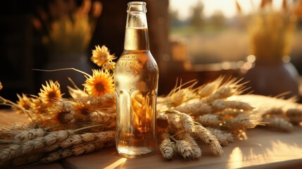
[{"label": "drooping wheat ears at the bottle's lower right, tips toward the viewer", "polygon": [[[186,113],[168,110],[158,115],[161,120],[159,138],[162,139],[160,150],[167,160],[177,152],[186,159],[198,159],[201,157],[201,147],[197,143],[202,141],[214,155],[223,154],[220,143],[210,131],[196,123],[194,118]],[[196,139],[194,139],[194,137]]]}]

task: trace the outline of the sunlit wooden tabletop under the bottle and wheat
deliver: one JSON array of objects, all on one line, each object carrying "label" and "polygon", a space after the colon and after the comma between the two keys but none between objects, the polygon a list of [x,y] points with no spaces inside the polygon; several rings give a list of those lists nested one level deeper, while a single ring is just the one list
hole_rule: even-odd
[{"label": "sunlit wooden tabletop under the bottle and wheat", "polygon": [[[0,111],[0,124],[11,125],[26,120],[10,111]],[[212,156],[208,147],[201,146],[202,157],[197,161],[186,161],[175,156],[165,161],[158,151],[146,158],[127,159],[119,156],[115,148],[102,149],[91,154],[65,158],[56,163],[39,164],[32,168],[302,168],[302,127],[291,133],[274,132],[268,129],[247,131],[248,139],[235,141],[223,147],[225,154]]]}]

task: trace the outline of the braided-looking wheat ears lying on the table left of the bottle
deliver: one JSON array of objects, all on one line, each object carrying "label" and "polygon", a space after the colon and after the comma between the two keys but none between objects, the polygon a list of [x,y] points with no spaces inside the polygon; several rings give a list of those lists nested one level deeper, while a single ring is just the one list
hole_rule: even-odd
[{"label": "braided-looking wheat ears lying on the table left of the bottle", "polygon": [[[49,163],[67,156],[89,153],[115,142],[115,131],[77,134],[81,130],[84,130],[84,128],[46,132],[44,136],[23,140],[22,142],[19,142],[19,137],[15,137],[11,144],[7,144],[6,147],[0,150],[0,167],[37,162]],[[28,132],[32,131],[28,130]],[[28,154],[32,154],[32,157],[26,157]]]}]

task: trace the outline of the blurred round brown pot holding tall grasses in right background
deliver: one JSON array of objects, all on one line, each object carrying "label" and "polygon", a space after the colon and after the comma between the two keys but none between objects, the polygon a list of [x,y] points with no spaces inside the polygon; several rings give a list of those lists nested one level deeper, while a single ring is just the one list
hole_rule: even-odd
[{"label": "blurred round brown pot holding tall grasses in right background", "polygon": [[253,94],[265,96],[298,96],[299,75],[291,62],[282,58],[256,59],[253,68],[244,75]]}]

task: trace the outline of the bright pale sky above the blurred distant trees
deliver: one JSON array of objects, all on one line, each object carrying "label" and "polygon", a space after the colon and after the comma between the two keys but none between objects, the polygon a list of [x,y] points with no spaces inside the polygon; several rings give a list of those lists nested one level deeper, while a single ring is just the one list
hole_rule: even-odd
[{"label": "bright pale sky above the blurred distant trees", "polygon": [[[191,15],[191,8],[201,1],[203,3],[203,14],[208,17],[215,11],[221,11],[225,17],[232,18],[237,14],[235,0],[169,0],[169,8],[177,10],[181,20],[187,19]],[[252,6],[259,6],[260,0],[238,0],[243,13],[250,13]],[[253,5],[252,5],[253,4]],[[281,6],[282,0],[273,0],[273,6]]]}]

